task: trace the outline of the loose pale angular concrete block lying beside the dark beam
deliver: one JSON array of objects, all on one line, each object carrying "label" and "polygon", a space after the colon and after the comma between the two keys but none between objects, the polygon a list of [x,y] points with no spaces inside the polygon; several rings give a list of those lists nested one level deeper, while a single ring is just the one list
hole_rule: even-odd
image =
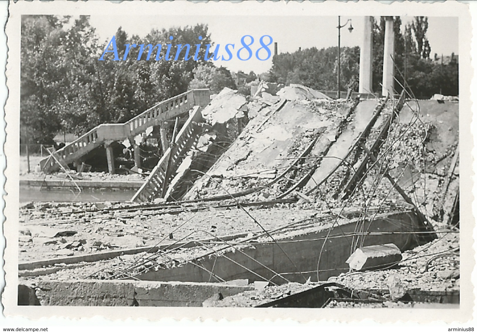
[{"label": "loose pale angular concrete block lying beside the dark beam", "polygon": [[356,249],[346,260],[356,271],[384,269],[403,259],[401,250],[394,243],[376,244]]}]

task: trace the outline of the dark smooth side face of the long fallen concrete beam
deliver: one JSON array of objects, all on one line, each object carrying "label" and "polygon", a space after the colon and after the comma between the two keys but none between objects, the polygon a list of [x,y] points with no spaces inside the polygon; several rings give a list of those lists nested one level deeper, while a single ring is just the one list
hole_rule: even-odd
[{"label": "dark smooth side face of the long fallen concrete beam", "polygon": [[[162,280],[184,282],[207,282],[210,280],[210,273],[213,271],[217,276],[225,279],[249,279],[249,282],[263,280],[245,268],[258,273],[266,280],[275,283],[283,283],[284,280],[275,275],[274,272],[281,272],[286,279],[292,282],[303,282],[303,279],[311,277],[311,281],[326,281],[329,277],[339,275],[341,272],[349,270],[349,265],[345,262],[349,257],[348,238],[342,237],[342,233],[352,234],[356,230],[356,224],[363,222],[359,218],[340,219],[340,227],[334,227],[331,231],[332,222],[320,222],[316,228],[307,229],[293,235],[280,237],[279,244],[250,242],[253,247],[243,248],[241,252],[225,252],[223,255],[214,257],[208,254],[197,257],[202,268],[192,263],[186,263],[171,269],[149,270],[141,274],[142,280]],[[369,228],[368,228],[369,226]],[[411,249],[417,242],[413,234],[409,234],[409,227],[418,226],[418,218],[413,211],[408,212],[388,212],[376,216],[371,221],[364,221],[364,228],[369,231],[364,241],[364,245],[376,245],[381,243],[394,243],[398,248]],[[317,275],[317,257],[310,252],[320,252],[325,237],[324,250],[326,254],[321,257],[319,265],[319,276]],[[306,240],[306,241],[305,241]],[[306,243],[306,245],[304,245]],[[287,253],[287,256],[283,252]],[[248,256],[246,256],[247,254]],[[232,262],[225,258],[227,256]],[[250,260],[253,257],[256,261]],[[297,268],[290,264],[292,260]],[[237,264],[239,263],[239,264]],[[207,271],[205,271],[206,269]],[[298,271],[306,271],[297,273]],[[290,272],[290,273],[288,273]],[[319,277],[319,279],[318,279]]]}]

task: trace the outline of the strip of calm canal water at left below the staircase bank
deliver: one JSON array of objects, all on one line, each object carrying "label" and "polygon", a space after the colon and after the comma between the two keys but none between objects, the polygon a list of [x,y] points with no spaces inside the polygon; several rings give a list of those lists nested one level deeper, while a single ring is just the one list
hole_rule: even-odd
[{"label": "strip of calm canal water at left below the staircase bank", "polygon": [[89,189],[85,188],[78,193],[77,190],[69,189],[42,189],[31,186],[20,186],[20,202],[31,201],[129,201],[134,196],[136,190],[111,190],[111,189]]}]

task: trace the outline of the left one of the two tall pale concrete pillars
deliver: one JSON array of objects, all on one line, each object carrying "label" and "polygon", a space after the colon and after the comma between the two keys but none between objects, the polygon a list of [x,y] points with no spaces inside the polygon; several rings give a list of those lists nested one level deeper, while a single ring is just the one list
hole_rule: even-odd
[{"label": "left one of the two tall pale concrete pillars", "polygon": [[359,58],[359,93],[373,92],[372,16],[364,16],[363,45]]}]

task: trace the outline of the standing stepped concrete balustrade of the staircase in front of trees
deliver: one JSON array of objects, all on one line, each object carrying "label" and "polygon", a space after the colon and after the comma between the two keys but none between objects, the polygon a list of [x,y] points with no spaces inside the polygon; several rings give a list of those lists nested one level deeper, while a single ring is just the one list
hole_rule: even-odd
[{"label": "standing stepped concrete balustrade of the staircase in front of trees", "polygon": [[[102,144],[107,145],[112,141],[133,138],[148,127],[160,125],[163,121],[186,113],[194,106],[205,107],[209,101],[210,91],[208,89],[195,89],[181,93],[176,97],[157,103],[125,123],[100,124],[56,153],[67,164],[72,163]],[[60,169],[60,165],[53,158],[41,160],[40,167],[45,173]]]}]

